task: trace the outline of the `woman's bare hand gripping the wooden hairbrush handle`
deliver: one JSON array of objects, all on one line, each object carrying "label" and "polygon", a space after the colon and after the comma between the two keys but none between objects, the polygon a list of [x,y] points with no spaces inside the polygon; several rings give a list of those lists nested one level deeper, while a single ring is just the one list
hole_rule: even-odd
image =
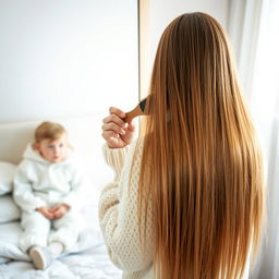
[{"label": "woman's bare hand gripping the wooden hairbrush handle", "polygon": [[135,128],[132,121],[125,123],[125,113],[118,108],[111,107],[110,114],[102,120],[102,137],[110,148],[123,148],[132,142]]}]

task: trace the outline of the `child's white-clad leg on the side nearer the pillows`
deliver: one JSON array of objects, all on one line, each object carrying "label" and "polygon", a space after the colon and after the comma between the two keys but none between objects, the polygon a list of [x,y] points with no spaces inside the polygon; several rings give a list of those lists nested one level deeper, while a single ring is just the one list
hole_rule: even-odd
[{"label": "child's white-clad leg on the side nearer the pillows", "polygon": [[20,247],[27,252],[32,246],[47,246],[47,240],[51,222],[40,213],[23,213],[22,228],[24,230],[20,239]]}]

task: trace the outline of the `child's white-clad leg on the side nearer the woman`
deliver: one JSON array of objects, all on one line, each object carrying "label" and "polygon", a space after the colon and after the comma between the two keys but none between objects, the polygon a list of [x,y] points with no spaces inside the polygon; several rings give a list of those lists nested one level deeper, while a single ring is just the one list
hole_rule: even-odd
[{"label": "child's white-clad leg on the side nearer the woman", "polygon": [[80,233],[77,215],[70,210],[63,217],[56,219],[52,226],[56,231],[49,238],[50,246],[53,242],[61,243],[63,246],[61,253],[69,251],[77,242]]}]

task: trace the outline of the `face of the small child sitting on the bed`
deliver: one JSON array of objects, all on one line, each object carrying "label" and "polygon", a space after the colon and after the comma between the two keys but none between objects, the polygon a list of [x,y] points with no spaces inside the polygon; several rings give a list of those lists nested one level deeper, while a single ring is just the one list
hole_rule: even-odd
[{"label": "face of the small child sitting on the bed", "polygon": [[48,161],[60,162],[65,158],[66,154],[66,138],[62,135],[58,140],[43,140],[36,144],[36,149]]}]

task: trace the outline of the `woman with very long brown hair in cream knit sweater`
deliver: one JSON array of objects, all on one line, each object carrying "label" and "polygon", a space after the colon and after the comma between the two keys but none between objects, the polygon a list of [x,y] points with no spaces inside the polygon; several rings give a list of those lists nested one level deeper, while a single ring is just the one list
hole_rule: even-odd
[{"label": "woman with very long brown hair in cream knit sweater", "polygon": [[104,119],[116,172],[99,202],[111,260],[123,278],[248,278],[264,216],[260,148],[228,38],[205,13],[163,32],[141,136],[125,113]]}]

